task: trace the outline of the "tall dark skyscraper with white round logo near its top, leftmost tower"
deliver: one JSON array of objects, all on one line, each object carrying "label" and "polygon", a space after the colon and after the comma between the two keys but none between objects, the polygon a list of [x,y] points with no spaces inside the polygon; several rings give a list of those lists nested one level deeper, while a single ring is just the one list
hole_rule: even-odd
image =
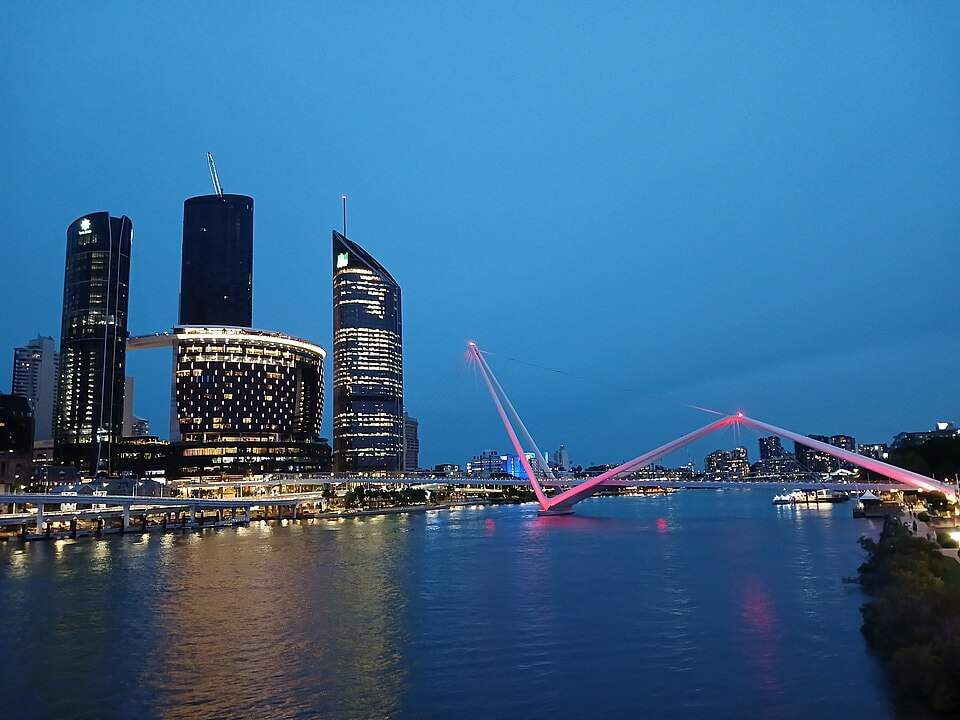
[{"label": "tall dark skyscraper with white round logo near its top, leftmost tower", "polygon": [[54,462],[109,473],[123,426],[130,218],[85,215],[67,228]]}]

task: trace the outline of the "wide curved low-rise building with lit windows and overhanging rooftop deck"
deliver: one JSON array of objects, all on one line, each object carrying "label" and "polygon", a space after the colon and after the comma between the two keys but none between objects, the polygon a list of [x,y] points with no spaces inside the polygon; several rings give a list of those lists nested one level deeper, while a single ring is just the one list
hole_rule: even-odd
[{"label": "wide curved low-rise building with lit windows and overhanging rooftop deck", "polygon": [[330,471],[319,345],[266,330],[183,325],[129,345],[174,347],[179,441],[165,459],[145,456],[157,452],[146,441],[127,442],[124,469],[199,481]]}]

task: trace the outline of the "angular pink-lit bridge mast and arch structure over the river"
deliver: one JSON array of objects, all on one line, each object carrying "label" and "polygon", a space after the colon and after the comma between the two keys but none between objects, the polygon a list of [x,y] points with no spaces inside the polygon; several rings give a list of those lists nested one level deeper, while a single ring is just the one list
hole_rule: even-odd
[{"label": "angular pink-lit bridge mast and arch structure over the river", "polygon": [[[533,488],[533,492],[537,496],[537,502],[540,504],[541,515],[569,515],[573,513],[574,505],[581,500],[585,500],[594,493],[599,492],[604,486],[623,484],[622,481],[618,480],[620,476],[655,463],[657,460],[660,460],[666,455],[680,450],[690,443],[706,437],[717,430],[722,430],[723,428],[735,425],[745,426],[754,430],[768,433],[770,435],[777,435],[786,440],[792,440],[795,443],[799,443],[828,455],[832,455],[835,458],[844,460],[865,470],[870,470],[871,472],[875,472],[879,475],[883,475],[884,477],[890,478],[891,480],[902,483],[911,488],[917,488],[919,490],[926,490],[930,492],[942,492],[948,497],[954,497],[956,495],[955,489],[952,485],[940,482],[934,478],[929,478],[924,475],[890,465],[889,463],[885,463],[880,460],[875,460],[858,453],[850,452],[849,450],[828,445],[827,443],[814,440],[806,437],[805,435],[800,435],[799,433],[791,432],[790,430],[785,430],[777,427],[776,425],[770,425],[768,423],[761,422],[760,420],[754,420],[753,418],[747,417],[744,413],[738,412],[734,415],[723,416],[709,425],[705,425],[698,430],[694,430],[691,433],[677,438],[676,440],[672,440],[658,448],[654,448],[653,450],[650,450],[649,452],[646,452],[643,455],[634,458],[633,460],[625,462],[622,465],[618,465],[617,467],[612,468],[601,475],[590,478],[589,480],[564,490],[552,497],[547,497],[543,491],[543,488],[545,486],[555,486],[559,484],[557,482],[557,478],[554,477],[550,470],[550,466],[546,462],[546,459],[540,453],[540,450],[537,448],[537,444],[533,441],[533,438],[527,431],[526,426],[520,419],[520,415],[510,402],[510,398],[507,397],[507,394],[500,385],[500,382],[497,380],[496,375],[493,374],[493,370],[490,369],[490,365],[487,364],[486,358],[483,357],[483,352],[473,341],[468,343],[467,354],[476,363],[480,370],[480,375],[483,377],[484,384],[487,386],[487,390],[490,392],[490,397],[493,399],[493,404],[497,408],[497,413],[500,415],[500,420],[503,422],[503,426],[506,428],[507,435],[510,437],[510,442],[523,465],[523,471],[526,473],[527,479]],[[546,478],[538,479],[536,474],[533,472],[533,468],[530,466],[530,461],[527,459],[523,445],[520,442],[520,438],[517,436],[518,429],[520,434],[523,436],[524,441],[531,448],[534,456],[537,458],[540,467],[544,468],[544,471],[547,475]]]}]

